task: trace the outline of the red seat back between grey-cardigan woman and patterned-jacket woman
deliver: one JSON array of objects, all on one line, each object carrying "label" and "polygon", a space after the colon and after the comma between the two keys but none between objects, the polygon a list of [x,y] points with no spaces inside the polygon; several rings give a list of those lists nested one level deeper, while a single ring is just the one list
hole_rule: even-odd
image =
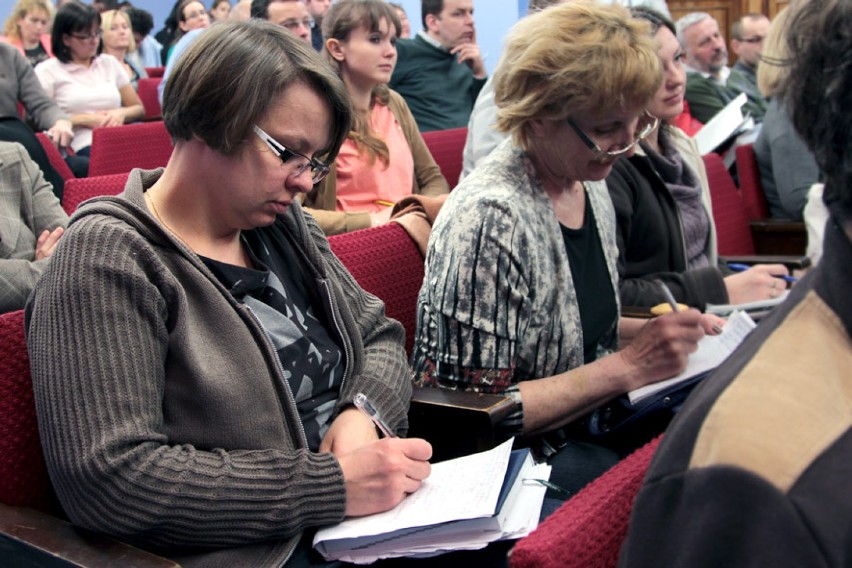
[{"label": "red seat back between grey-cardigan woman and patterned-jacket woman", "polygon": [[411,353],[417,295],[423,283],[423,257],[398,223],[329,237],[331,249],[358,284],[385,303],[385,313],[405,328]]}]

